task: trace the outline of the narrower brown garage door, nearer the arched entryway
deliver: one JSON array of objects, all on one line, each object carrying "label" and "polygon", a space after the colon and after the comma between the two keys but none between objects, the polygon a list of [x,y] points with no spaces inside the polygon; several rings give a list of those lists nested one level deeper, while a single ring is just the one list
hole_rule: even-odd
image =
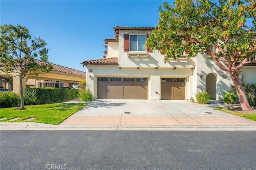
[{"label": "narrower brown garage door, nearer the arched entryway", "polygon": [[185,79],[161,78],[161,100],[185,100]]}]

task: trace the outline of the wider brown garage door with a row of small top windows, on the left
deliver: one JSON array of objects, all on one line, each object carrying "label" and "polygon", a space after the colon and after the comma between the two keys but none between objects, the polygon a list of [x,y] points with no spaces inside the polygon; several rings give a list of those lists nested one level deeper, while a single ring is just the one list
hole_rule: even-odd
[{"label": "wider brown garage door with a row of small top windows, on the left", "polygon": [[148,99],[148,78],[98,77],[98,99]]}]

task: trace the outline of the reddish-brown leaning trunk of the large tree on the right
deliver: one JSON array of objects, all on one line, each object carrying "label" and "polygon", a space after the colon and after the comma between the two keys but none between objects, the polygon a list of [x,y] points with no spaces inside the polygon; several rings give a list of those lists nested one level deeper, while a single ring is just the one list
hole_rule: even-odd
[{"label": "reddish-brown leaning trunk of the large tree on the right", "polygon": [[248,100],[244,91],[244,87],[242,86],[242,83],[238,80],[238,75],[231,77],[231,79],[236,89],[236,94],[238,96],[239,103],[242,107],[242,110],[243,111],[253,110],[248,103]]}]

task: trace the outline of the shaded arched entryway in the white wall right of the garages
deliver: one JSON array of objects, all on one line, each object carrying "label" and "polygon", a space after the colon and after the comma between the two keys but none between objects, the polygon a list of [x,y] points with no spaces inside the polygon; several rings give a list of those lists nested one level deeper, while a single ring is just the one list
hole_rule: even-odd
[{"label": "shaded arched entryway in the white wall right of the garages", "polygon": [[216,99],[216,76],[213,73],[206,76],[205,89],[212,95],[212,99]]}]

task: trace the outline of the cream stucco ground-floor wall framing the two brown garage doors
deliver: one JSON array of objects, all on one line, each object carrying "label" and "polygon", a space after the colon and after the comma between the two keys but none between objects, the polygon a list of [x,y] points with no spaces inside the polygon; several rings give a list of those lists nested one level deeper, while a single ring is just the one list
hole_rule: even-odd
[{"label": "cream stucco ground-floor wall framing the two brown garage doors", "polygon": [[[92,72],[88,72],[92,69]],[[148,77],[148,99],[159,100],[161,93],[160,81],[163,77],[188,78],[193,75],[194,69],[190,68],[118,68],[118,65],[88,65],[86,74],[86,87],[97,97],[97,77]],[[91,75],[91,78],[90,78]],[[190,83],[186,82],[186,88],[190,88]],[[155,92],[158,92],[156,94]],[[186,90],[187,91],[187,90]],[[187,97],[186,97],[187,99]]]}]

